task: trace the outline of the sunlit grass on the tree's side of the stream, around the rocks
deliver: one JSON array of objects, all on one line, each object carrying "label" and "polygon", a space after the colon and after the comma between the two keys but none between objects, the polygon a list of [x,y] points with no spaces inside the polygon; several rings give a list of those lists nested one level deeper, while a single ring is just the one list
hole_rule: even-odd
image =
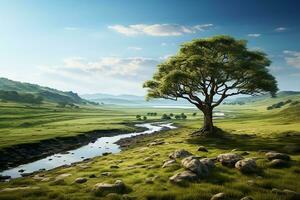
[{"label": "sunlit grass on the tree's side of the stream, around the rocks", "polygon": [[[114,182],[116,179],[122,179],[132,190],[129,195],[138,197],[138,199],[210,199],[212,194],[218,192],[225,192],[229,195],[229,199],[240,199],[245,195],[251,195],[256,200],[288,199],[288,196],[271,193],[271,189],[276,187],[297,191],[300,188],[298,181],[300,178],[300,154],[297,149],[297,145],[300,144],[300,120],[296,117],[299,114],[299,106],[266,111],[266,106],[272,103],[269,101],[273,100],[268,100],[265,104],[256,103],[255,106],[224,106],[221,108],[228,110],[228,114],[232,117],[216,120],[216,125],[228,132],[224,138],[191,140],[190,133],[199,128],[200,117],[176,121],[181,126],[180,129],[149,136],[141,143],[119,154],[95,158],[84,164],[88,168],[83,169],[77,165],[45,172],[43,174],[50,178],[48,182],[40,182],[28,177],[2,183],[0,188],[39,186],[40,189],[0,192],[0,199],[99,199],[92,192],[93,186],[99,182]],[[298,111],[295,112],[295,110]],[[145,110],[130,112],[134,117],[137,112],[143,111]],[[73,124],[73,121],[70,122]],[[252,136],[245,137],[242,135],[245,133]],[[163,138],[167,144],[144,148],[155,138]],[[197,152],[197,146],[200,144],[208,147],[209,152]],[[256,175],[242,175],[237,170],[223,167],[218,163],[208,178],[183,187],[175,186],[168,182],[168,178],[182,171],[182,168],[163,169],[161,165],[163,160],[168,158],[169,153],[180,148],[187,149],[195,155],[207,157],[215,157],[235,148],[249,151],[250,155],[246,157],[261,158],[258,160],[258,166],[262,171]],[[264,154],[258,152],[260,149],[289,153],[293,159],[291,167],[269,168]],[[154,156],[156,153],[159,155]],[[153,156],[153,161],[144,161],[144,158],[148,156]],[[110,169],[110,165],[115,164],[118,164],[120,168]],[[135,167],[131,167],[132,165]],[[112,176],[101,176],[101,172],[105,171],[112,172]],[[52,184],[51,179],[62,173],[71,173],[72,175],[66,178],[62,185]],[[88,177],[91,174],[95,174],[97,178],[88,178],[88,181],[81,185],[73,183],[75,178]],[[145,183],[146,178],[156,175],[159,177],[154,183]],[[250,184],[249,180],[253,183]]]}]

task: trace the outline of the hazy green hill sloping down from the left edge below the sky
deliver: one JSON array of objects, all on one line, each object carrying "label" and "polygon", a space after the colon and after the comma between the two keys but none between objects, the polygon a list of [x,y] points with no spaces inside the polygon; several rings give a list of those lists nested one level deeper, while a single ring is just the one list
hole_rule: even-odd
[{"label": "hazy green hill sloping down from the left edge below the sky", "polygon": [[[63,92],[49,87],[43,87],[37,84],[13,81],[7,78],[0,78],[0,91],[1,91],[0,94],[3,94],[2,99],[4,99],[5,96],[7,96],[7,94],[9,94],[10,98],[4,100],[11,100],[11,101],[14,100],[17,102],[22,102],[21,100],[22,96],[27,97],[33,95],[35,98],[42,98],[43,101],[49,101],[54,103],[61,103],[61,102],[73,103],[73,104],[91,103],[85,99],[82,99],[81,97],[78,96],[78,94],[72,91]],[[13,93],[12,91],[14,91],[15,93]]]}]

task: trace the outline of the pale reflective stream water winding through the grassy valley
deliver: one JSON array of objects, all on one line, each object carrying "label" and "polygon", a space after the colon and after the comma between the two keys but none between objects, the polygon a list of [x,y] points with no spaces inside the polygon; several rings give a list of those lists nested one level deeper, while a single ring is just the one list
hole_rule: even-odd
[{"label": "pale reflective stream water winding through the grassy valley", "polygon": [[128,138],[142,134],[151,134],[163,129],[176,128],[175,126],[172,126],[171,123],[144,123],[137,124],[136,126],[144,127],[148,130],[111,137],[100,137],[95,142],[91,142],[77,149],[70,150],[64,153],[53,154],[46,158],[2,171],[0,172],[0,175],[10,176],[11,178],[18,178],[21,177],[23,173],[32,173],[39,170],[50,170],[63,165],[70,165],[74,162],[83,161],[84,159],[101,156],[104,153],[118,153],[121,151],[121,148],[118,144],[115,144],[115,142],[122,138]]}]

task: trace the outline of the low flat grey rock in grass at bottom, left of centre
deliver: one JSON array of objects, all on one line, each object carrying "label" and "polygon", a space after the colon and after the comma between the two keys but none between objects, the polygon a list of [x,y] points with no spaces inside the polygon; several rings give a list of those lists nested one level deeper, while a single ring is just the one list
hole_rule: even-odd
[{"label": "low flat grey rock in grass at bottom, left of centre", "polygon": [[121,180],[116,180],[115,183],[109,184],[109,183],[97,183],[94,186],[94,191],[98,195],[105,196],[109,193],[124,193],[126,190],[126,185]]}]

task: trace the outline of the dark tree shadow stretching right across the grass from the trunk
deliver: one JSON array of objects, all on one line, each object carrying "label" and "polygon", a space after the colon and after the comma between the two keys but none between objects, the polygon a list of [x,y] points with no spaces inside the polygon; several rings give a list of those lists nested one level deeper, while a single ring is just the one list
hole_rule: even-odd
[{"label": "dark tree shadow stretching right across the grass from the trunk", "polygon": [[284,132],[280,136],[264,137],[254,134],[232,134],[222,131],[214,137],[192,136],[190,144],[240,151],[270,150],[289,154],[300,153],[300,132]]}]

